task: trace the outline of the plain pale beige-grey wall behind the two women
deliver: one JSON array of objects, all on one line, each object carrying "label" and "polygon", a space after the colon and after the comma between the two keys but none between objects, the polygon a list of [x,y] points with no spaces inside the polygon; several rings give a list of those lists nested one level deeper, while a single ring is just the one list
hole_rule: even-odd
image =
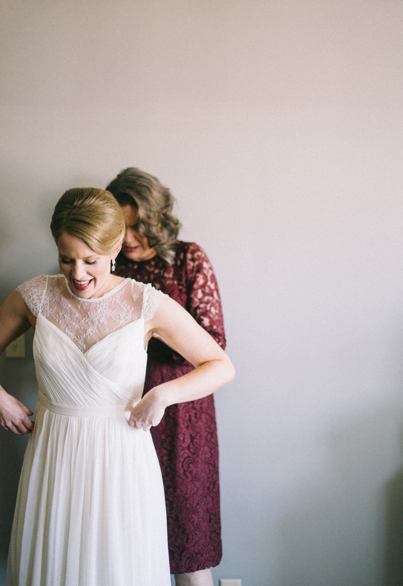
[{"label": "plain pale beige-grey wall behind the two women", "polygon": [[[216,584],[403,582],[402,25],[399,0],[2,4],[2,298],[56,271],[63,190],[130,165],[216,269]],[[25,440],[0,431],[4,554]]]}]

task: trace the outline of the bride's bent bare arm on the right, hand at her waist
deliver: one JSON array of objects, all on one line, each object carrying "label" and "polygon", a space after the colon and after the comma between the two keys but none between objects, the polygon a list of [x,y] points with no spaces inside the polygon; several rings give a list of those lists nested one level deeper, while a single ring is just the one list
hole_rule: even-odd
[{"label": "bride's bent bare arm on the right, hand at her waist", "polygon": [[235,374],[224,350],[173,299],[160,300],[148,328],[149,335],[161,336],[195,368],[178,379],[153,387],[134,407],[129,425],[145,429],[157,425],[169,405],[206,397],[233,380]]}]

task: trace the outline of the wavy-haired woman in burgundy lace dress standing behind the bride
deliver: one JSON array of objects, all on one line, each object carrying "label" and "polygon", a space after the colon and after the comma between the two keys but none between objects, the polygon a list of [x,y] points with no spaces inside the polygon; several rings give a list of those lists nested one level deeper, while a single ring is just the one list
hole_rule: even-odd
[{"label": "wavy-haired woman in burgundy lace dress standing behind the bride", "polygon": [[[152,283],[225,347],[213,268],[197,244],[176,240],[173,197],[158,179],[128,168],[108,185],[122,207],[126,237],[115,274]],[[193,369],[162,339],[148,344],[145,389]],[[221,560],[218,445],[213,396],[168,407],[151,429],[165,486],[171,573],[177,586],[213,586]]]}]

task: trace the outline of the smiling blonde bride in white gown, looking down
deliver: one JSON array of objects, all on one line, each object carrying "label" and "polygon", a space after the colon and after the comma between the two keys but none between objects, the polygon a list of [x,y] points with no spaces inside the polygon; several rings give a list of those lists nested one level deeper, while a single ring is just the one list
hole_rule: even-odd
[{"label": "smiling blonde bride in white gown, looking down", "polygon": [[[165,408],[233,379],[226,353],[185,309],[111,274],[124,239],[109,192],[69,189],[51,230],[62,274],[20,285],[0,308],[0,351],[31,326],[33,413],[0,387],[0,424],[30,433],[6,586],[169,586],[165,499],[150,428]],[[159,336],[194,370],[142,398]],[[145,433],[144,433],[145,432]]]}]

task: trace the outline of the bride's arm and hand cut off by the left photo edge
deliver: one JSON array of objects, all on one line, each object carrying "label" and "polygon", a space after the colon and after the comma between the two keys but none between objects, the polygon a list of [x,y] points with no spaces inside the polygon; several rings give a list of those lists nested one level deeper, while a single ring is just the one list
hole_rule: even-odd
[{"label": "bride's arm and hand cut off by the left photo edge", "polygon": [[[13,291],[0,307],[0,353],[31,327],[29,314],[21,293]],[[28,415],[32,411],[0,386],[1,427],[13,434],[28,434],[33,428]]]}]

